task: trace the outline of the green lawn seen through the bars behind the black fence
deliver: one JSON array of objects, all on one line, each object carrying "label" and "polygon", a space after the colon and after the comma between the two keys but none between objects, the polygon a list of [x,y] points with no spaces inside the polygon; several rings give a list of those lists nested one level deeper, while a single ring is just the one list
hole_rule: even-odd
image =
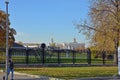
[{"label": "green lawn seen through the bars behind the black fence", "polygon": [[[26,63],[26,57],[25,56],[13,56],[12,57],[14,63],[20,63],[20,64],[25,64]],[[5,62],[5,57],[0,57],[0,63]],[[58,63],[58,58],[57,57],[52,57],[52,58],[46,58],[45,59],[46,63]],[[29,57],[29,64],[31,63],[42,63],[41,58],[37,60],[35,56],[30,56]],[[73,63],[73,58],[60,58],[60,63]],[[76,58],[75,63],[80,64],[80,63],[87,63],[86,58]],[[102,58],[92,58],[91,59],[91,64],[103,64]],[[106,60],[106,64],[114,64],[113,60]]]}]

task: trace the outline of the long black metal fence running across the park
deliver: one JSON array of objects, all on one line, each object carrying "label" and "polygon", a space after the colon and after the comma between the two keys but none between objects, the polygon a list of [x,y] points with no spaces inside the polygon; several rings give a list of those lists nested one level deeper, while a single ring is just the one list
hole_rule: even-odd
[{"label": "long black metal fence running across the park", "polygon": [[[114,51],[42,48],[10,48],[15,64],[115,64]],[[5,49],[0,49],[0,64],[5,64]]]}]

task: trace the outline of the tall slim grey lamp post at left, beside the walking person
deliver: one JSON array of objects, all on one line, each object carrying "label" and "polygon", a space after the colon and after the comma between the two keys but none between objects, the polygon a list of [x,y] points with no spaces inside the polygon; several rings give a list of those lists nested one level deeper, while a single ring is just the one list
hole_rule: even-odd
[{"label": "tall slim grey lamp post at left, beside the walking person", "polygon": [[9,39],[9,24],[8,24],[8,4],[9,1],[6,0],[5,1],[6,4],[6,79],[8,80],[8,50],[9,50],[9,46],[8,46],[8,39]]}]

